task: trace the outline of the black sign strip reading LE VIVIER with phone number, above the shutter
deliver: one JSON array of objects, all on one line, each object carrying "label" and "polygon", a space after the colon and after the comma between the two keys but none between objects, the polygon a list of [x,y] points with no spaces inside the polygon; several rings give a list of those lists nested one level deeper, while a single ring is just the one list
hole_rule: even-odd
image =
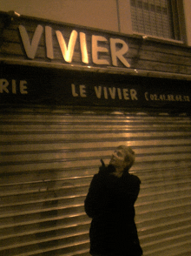
[{"label": "black sign strip reading LE VIVIER with phone number, above the shutter", "polygon": [[1,104],[56,104],[188,111],[190,81],[2,66]]}]

